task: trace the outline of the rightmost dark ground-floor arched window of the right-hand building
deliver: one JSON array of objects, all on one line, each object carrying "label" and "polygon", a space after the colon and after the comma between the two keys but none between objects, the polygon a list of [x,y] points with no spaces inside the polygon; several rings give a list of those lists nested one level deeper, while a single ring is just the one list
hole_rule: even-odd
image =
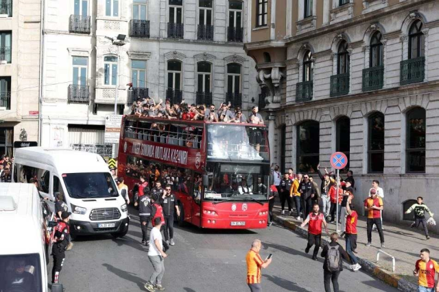
[{"label": "rightmost dark ground-floor arched window of the right-hand building", "polygon": [[406,172],[425,172],[425,109],[407,112]]}]

